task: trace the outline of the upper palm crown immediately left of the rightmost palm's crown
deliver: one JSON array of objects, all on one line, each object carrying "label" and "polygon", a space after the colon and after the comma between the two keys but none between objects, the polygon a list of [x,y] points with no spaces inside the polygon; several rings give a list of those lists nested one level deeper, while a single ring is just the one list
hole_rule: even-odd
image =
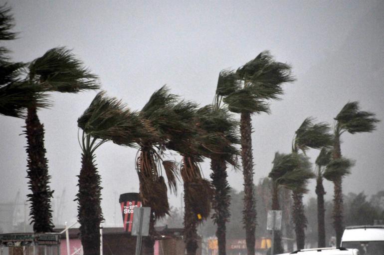
[{"label": "upper palm crown immediately left of the rightmost palm's crown", "polygon": [[305,153],[309,148],[321,149],[332,146],[333,135],[329,133],[329,125],[323,122],[313,123],[314,120],[312,117],[306,118],[296,130],[293,142],[294,151],[300,149]]}]

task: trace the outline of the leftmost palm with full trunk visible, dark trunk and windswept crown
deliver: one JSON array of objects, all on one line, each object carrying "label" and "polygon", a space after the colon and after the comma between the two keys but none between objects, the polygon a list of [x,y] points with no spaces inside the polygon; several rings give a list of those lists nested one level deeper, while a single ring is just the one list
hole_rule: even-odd
[{"label": "leftmost palm with full trunk visible, dark trunk and windswept crown", "polygon": [[[43,91],[77,93],[88,89],[98,89],[96,75],[83,67],[81,61],[64,47],[48,50],[43,56],[33,60],[27,70],[29,87],[41,87]],[[48,166],[44,148],[44,126],[37,116],[37,105],[27,108],[25,132],[29,179],[32,194],[27,195],[34,232],[51,232],[52,210],[50,199],[53,191],[49,187]]]}]

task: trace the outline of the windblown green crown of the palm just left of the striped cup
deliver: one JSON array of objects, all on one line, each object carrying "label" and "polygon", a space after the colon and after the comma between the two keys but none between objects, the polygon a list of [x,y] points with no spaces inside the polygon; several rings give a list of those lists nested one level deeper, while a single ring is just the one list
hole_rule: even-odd
[{"label": "windblown green crown of the palm just left of the striped cup", "polygon": [[135,146],[143,132],[139,114],[131,112],[116,98],[105,96],[104,91],[95,96],[77,123],[79,128],[96,139],[126,146]]}]

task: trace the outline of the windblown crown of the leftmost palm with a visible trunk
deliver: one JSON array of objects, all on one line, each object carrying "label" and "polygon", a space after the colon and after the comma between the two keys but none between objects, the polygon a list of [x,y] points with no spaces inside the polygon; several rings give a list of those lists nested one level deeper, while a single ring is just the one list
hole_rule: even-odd
[{"label": "windblown crown of the leftmost palm with a visible trunk", "polygon": [[29,64],[29,80],[40,83],[46,91],[77,93],[98,89],[96,79],[65,47],[50,49]]}]

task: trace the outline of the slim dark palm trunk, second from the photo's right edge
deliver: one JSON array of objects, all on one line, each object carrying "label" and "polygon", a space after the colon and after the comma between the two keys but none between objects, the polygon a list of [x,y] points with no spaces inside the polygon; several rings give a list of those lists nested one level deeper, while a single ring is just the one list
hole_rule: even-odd
[{"label": "slim dark palm trunk, second from the photo's right edge", "polygon": [[325,209],[324,209],[324,195],[326,194],[323,186],[323,178],[317,177],[316,180],[316,195],[317,195],[317,246],[325,247]]}]

